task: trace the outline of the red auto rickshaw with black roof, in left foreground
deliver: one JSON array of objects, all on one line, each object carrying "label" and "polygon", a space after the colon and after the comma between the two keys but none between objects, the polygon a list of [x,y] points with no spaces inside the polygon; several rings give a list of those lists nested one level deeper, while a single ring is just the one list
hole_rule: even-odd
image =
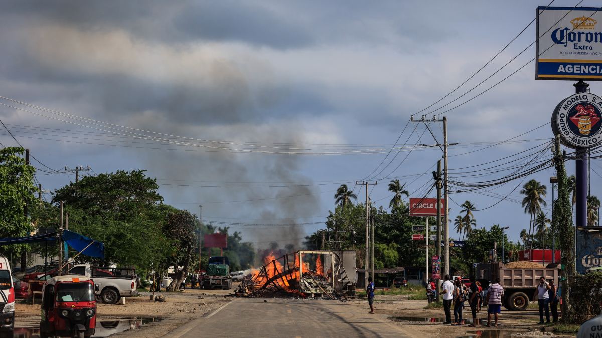
[{"label": "red auto rickshaw with black roof, in left foreground", "polygon": [[90,337],[96,327],[96,286],[79,275],[53,277],[42,288],[40,337]]}]

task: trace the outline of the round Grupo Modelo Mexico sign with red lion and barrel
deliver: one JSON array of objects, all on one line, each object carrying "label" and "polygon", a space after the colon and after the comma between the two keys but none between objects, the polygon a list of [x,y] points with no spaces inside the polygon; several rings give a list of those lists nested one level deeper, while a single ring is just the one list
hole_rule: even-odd
[{"label": "round Grupo Modelo Mexico sign with red lion and barrel", "polygon": [[573,94],[558,103],[552,114],[552,131],[563,144],[588,148],[602,144],[602,97],[592,93]]}]

